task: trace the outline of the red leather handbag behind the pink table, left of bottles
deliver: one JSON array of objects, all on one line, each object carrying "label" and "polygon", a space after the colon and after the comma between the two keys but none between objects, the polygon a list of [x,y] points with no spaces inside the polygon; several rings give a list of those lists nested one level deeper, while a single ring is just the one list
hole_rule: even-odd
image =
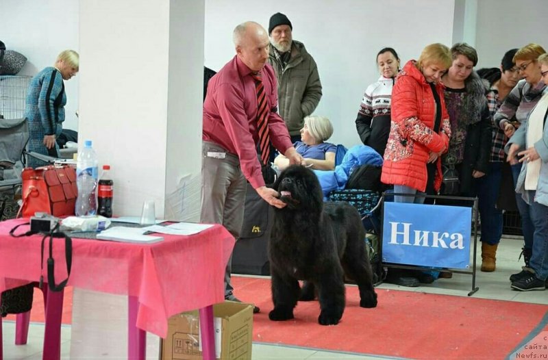
[{"label": "red leather handbag behind the pink table, left of bottles", "polygon": [[53,216],[74,215],[76,196],[76,170],[68,165],[24,168],[23,205],[19,212],[23,218],[34,216],[37,211]]}]

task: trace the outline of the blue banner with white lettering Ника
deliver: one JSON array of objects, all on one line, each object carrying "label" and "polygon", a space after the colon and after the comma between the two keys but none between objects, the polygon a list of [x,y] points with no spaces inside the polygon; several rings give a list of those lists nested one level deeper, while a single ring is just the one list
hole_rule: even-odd
[{"label": "blue banner with white lettering \u041d\u0438\u043a\u0430", "polygon": [[384,203],[382,261],[468,268],[472,208]]}]

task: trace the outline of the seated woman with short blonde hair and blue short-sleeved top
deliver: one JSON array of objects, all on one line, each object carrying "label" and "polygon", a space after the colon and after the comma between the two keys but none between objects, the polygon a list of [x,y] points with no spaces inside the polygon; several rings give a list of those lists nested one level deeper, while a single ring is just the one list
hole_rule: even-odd
[{"label": "seated woman with short blonde hair and blue short-sleeved top", "polygon": [[[295,150],[304,157],[306,166],[314,170],[334,170],[337,146],[325,142],[333,134],[333,125],[323,116],[306,116],[301,129],[301,141],[295,142]],[[289,159],[278,155],[274,164],[279,170],[289,166]]]}]

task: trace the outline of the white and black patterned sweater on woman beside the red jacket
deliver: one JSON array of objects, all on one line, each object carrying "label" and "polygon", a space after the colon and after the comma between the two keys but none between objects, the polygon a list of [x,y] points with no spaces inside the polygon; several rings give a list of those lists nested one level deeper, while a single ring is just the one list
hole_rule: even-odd
[{"label": "white and black patterned sweater on woman beside the red jacket", "polygon": [[381,156],[384,155],[390,133],[390,102],[394,82],[393,78],[381,76],[368,86],[356,118],[360,140]]}]

